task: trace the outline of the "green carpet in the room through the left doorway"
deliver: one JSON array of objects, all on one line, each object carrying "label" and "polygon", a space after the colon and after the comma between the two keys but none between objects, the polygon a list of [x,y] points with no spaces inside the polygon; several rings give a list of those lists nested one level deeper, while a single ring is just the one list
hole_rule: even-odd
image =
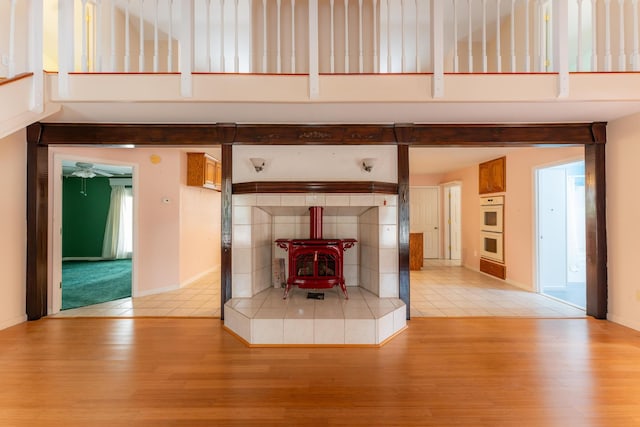
[{"label": "green carpet in the room through the left doorway", "polygon": [[62,263],[62,309],[131,296],[131,260]]}]

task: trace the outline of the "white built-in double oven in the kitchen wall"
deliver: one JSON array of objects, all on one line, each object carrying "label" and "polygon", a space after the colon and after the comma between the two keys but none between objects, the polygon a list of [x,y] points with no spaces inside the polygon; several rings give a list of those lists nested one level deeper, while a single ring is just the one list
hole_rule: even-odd
[{"label": "white built-in double oven in the kitchen wall", "polygon": [[480,256],[504,263],[504,196],[480,198]]}]

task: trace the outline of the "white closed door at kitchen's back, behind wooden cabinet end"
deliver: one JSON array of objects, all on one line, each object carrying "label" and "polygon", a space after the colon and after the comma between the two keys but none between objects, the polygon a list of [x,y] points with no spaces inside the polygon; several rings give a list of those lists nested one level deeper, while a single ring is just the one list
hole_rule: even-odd
[{"label": "white closed door at kitchen's back, behind wooden cabinet end", "polygon": [[412,233],[423,233],[425,258],[440,256],[438,195],[438,187],[411,187],[410,189],[410,230]]}]

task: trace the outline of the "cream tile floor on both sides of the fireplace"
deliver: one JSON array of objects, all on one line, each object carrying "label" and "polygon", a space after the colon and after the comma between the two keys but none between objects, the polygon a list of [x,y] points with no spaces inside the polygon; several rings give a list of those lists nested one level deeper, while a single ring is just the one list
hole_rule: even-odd
[{"label": "cream tile floor on both sides of the fireplace", "polygon": [[[124,298],[64,310],[52,317],[220,317],[220,276],[211,273],[163,294]],[[425,260],[411,272],[411,317],[584,317],[585,312],[544,295],[444,260]]]}]

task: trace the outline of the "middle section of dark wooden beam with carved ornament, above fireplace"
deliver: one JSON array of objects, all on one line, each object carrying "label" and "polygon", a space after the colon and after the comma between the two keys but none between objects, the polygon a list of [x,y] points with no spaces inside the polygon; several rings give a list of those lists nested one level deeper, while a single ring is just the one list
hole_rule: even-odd
[{"label": "middle section of dark wooden beam with carved ornament, above fireplace", "polygon": [[236,144],[380,145],[395,144],[391,125],[256,125],[237,126]]}]

